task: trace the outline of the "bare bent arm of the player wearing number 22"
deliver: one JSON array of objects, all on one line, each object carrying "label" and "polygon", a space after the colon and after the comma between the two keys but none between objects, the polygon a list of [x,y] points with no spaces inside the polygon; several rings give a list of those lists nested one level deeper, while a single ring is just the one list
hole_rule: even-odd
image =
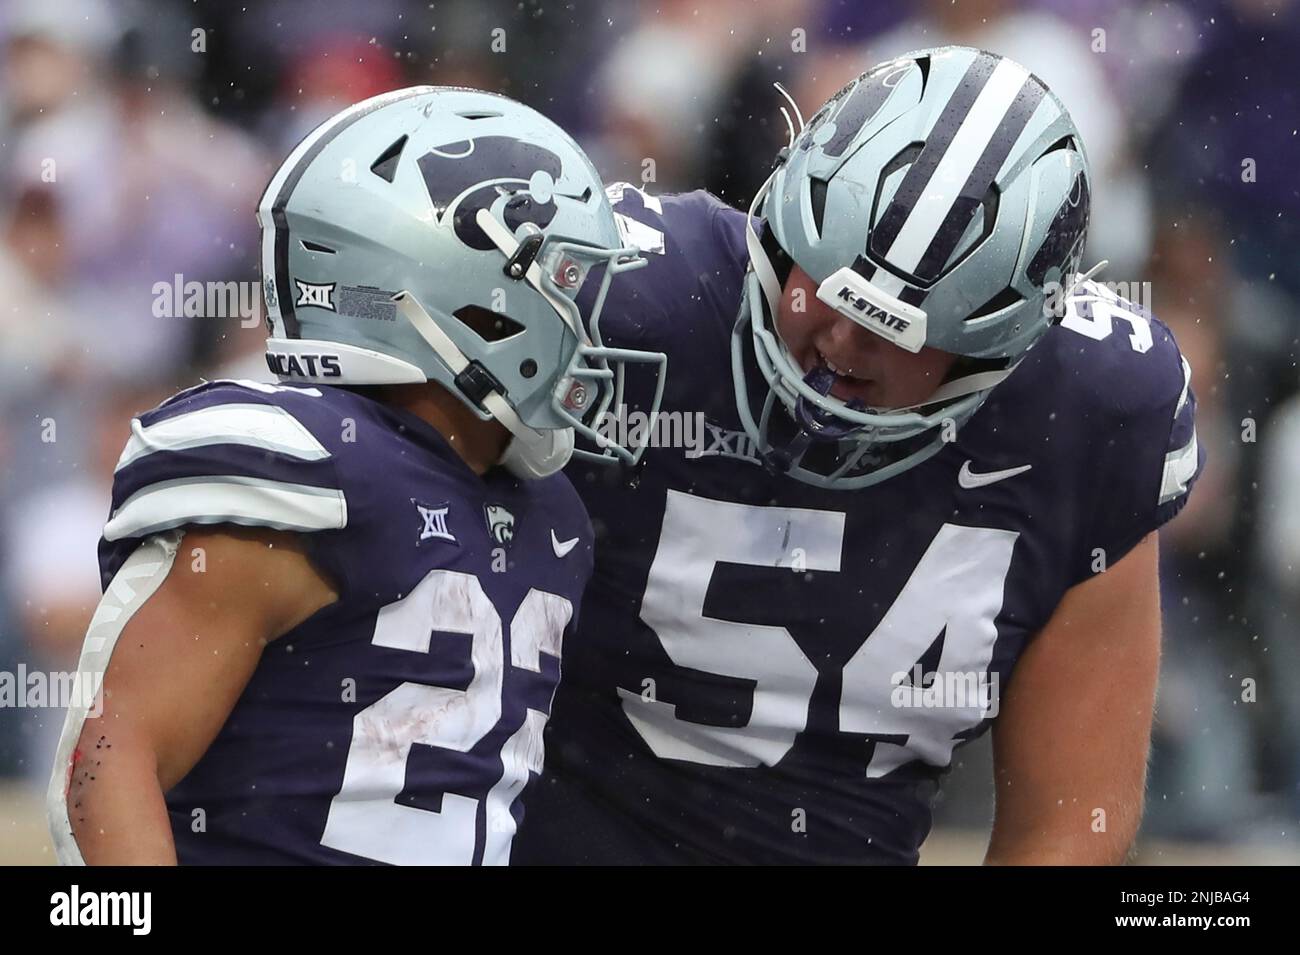
[{"label": "bare bent arm of the player wearing number 22", "polygon": [[124,628],[103,713],[77,745],[68,817],[86,863],[176,864],[164,794],[207,751],[266,643],[335,599],[294,534],[185,533],[166,578]]}]

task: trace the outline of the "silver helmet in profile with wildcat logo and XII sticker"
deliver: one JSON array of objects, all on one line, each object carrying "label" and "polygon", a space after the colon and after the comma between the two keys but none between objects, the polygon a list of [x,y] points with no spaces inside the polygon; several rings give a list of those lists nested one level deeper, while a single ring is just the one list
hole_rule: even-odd
[{"label": "silver helmet in profile with wildcat logo and XII sticker", "polygon": [[[437,382],[515,435],[503,463],[526,477],[563,466],[573,430],[601,448],[576,453],[640,457],[592,425],[627,364],[653,365],[662,394],[664,356],[607,348],[599,331],[610,283],[644,262],[590,161],[541,114],[448,87],[373,97],[294,149],[259,221],[282,379]],[[597,272],[584,321],[577,292]]]}]

